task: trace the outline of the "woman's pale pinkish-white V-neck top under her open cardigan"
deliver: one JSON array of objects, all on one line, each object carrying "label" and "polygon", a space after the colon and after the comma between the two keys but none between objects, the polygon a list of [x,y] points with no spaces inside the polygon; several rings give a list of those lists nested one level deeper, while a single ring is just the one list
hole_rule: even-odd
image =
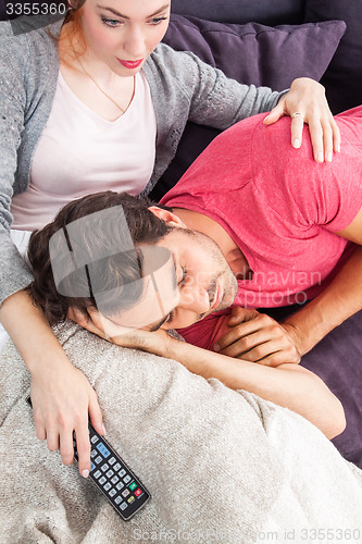
[{"label": "woman's pale pinkish-white V-neck top under her open cardigan", "polygon": [[155,157],[157,122],[145,75],[115,121],[88,108],[61,72],[47,125],[35,149],[30,185],[14,196],[13,228],[34,231],[53,220],[74,198],[100,190],[138,195],[149,182]]}]

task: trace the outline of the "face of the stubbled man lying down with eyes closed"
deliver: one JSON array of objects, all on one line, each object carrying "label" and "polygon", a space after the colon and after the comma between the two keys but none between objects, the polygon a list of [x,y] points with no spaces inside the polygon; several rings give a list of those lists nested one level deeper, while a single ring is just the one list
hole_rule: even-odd
[{"label": "face of the stubbled man lying down with eyes closed", "polygon": [[[148,281],[146,276],[143,296],[139,304],[121,316],[112,317],[113,322],[134,327],[139,322],[139,327],[147,330],[160,326],[183,329],[233,304],[238,288],[237,280],[219,246],[209,236],[175,227],[157,246],[170,250],[173,263],[154,275],[159,298],[163,301],[163,314],[160,318],[154,282]],[[147,326],[146,308],[150,316]],[[150,308],[154,308],[154,317],[151,317]]]}]

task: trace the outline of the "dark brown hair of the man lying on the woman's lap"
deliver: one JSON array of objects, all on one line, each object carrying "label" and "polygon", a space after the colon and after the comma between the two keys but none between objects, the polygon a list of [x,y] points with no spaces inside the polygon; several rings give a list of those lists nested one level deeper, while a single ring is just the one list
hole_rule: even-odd
[{"label": "dark brown hair of the man lying on the woman's lap", "polygon": [[[86,317],[88,308],[97,309],[93,292],[101,293],[102,313],[109,316],[120,311],[121,306],[126,309],[137,302],[142,294],[142,282],[138,282],[138,287],[136,282],[142,277],[142,255],[137,246],[155,244],[173,228],[154,215],[148,209],[149,206],[152,206],[152,202],[148,198],[136,198],[126,193],[95,193],[68,202],[54,221],[32,234],[28,260],[34,281],[28,289],[34,302],[42,308],[51,325],[63,321],[70,307],[80,310]],[[124,215],[120,208],[115,207],[122,207]],[[170,210],[164,206],[160,208]],[[54,263],[51,262],[49,240],[55,233],[64,233],[65,238],[62,236],[59,239],[66,239],[68,244],[66,225],[101,210],[108,210],[102,214],[101,221],[90,222],[91,228],[77,231],[77,236],[80,237],[77,242],[86,248],[87,262],[92,265],[92,285],[89,285],[89,275],[88,272],[85,273],[85,268],[75,268],[60,289],[62,295],[54,281]],[[124,251],[121,248],[125,247],[129,235],[134,248]],[[115,251],[115,248],[120,250]],[[66,251],[67,259],[71,249],[70,247]],[[54,252],[54,248],[52,250]],[[62,251],[65,254],[64,244],[63,247],[55,247],[55,255],[60,260]],[[108,257],[100,259],[100,255]],[[135,288],[129,289],[129,283],[134,283]],[[116,297],[114,289],[117,289]],[[67,296],[72,290],[75,296]],[[97,300],[99,301],[99,298]]]}]

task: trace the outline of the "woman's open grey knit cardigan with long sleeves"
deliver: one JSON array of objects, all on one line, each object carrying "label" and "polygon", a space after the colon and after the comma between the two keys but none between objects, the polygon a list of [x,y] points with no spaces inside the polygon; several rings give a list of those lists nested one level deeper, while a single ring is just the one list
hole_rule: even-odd
[{"label": "woman's open grey knit cardigan with long sleeves", "polygon": [[[29,185],[32,157],[49,118],[59,75],[62,21],[14,36],[0,23],[0,304],[32,281],[10,237],[13,194]],[[49,33],[50,30],[50,33]],[[189,52],[157,47],[143,72],[157,118],[157,156],[148,194],[175,156],[188,120],[220,129],[271,110],[284,92],[240,85]],[[66,112],[64,112],[66,114]]]}]

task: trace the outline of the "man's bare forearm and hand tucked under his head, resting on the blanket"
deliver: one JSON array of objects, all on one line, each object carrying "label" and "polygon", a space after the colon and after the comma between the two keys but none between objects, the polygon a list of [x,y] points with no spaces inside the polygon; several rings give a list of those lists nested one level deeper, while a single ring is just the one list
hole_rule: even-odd
[{"label": "man's bare forearm and hand tucked under his head, resting on the blanket", "polygon": [[311,421],[328,438],[340,434],[346,426],[344,408],[337,397],[320,378],[297,364],[279,364],[276,368],[254,364],[192,346],[162,330],[122,329],[96,311],[90,312],[91,320],[86,320],[74,310],[70,314],[88,331],[114,344],[174,359],[195,374],[205,379],[216,378],[233,390],[246,390],[289,408]]}]

